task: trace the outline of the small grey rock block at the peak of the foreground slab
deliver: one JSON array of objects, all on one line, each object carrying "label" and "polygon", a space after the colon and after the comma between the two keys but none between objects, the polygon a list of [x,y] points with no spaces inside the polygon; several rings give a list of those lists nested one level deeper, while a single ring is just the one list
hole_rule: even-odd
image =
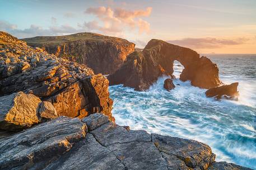
[{"label": "small grey rock block at the peak of the foreground slab", "polygon": [[101,125],[108,123],[109,118],[103,114],[95,113],[83,118],[81,121],[86,123],[89,130],[94,130],[99,128]]}]

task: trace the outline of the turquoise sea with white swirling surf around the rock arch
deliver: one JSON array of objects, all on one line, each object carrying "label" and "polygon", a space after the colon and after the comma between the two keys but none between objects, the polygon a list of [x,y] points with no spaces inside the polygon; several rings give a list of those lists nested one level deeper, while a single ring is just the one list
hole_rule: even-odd
[{"label": "turquoise sea with white swirling surf around the rock arch", "polygon": [[[160,77],[144,92],[110,86],[113,115],[119,125],[210,145],[217,161],[227,161],[256,169],[256,55],[211,55],[220,70],[220,79],[239,82],[239,101],[206,98],[205,89],[189,81],[174,80],[176,88],[163,88]],[[174,66],[176,77],[183,69]]]}]

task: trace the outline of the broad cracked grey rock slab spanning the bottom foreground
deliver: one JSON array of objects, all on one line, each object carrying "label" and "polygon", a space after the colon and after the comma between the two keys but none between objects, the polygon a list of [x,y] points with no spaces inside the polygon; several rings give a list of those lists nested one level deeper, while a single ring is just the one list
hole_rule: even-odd
[{"label": "broad cracked grey rock slab spanning the bottom foreground", "polygon": [[[86,126],[87,125],[87,126]],[[89,132],[87,132],[89,129]],[[248,169],[195,140],[127,130],[103,114],[59,117],[0,138],[0,169]]]}]

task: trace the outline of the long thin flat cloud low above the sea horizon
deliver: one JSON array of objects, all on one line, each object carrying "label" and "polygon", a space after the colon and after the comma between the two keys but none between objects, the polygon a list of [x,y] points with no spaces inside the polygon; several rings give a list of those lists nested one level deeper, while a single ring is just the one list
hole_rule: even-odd
[{"label": "long thin flat cloud low above the sea horizon", "polygon": [[175,45],[196,48],[196,49],[213,49],[213,48],[222,48],[224,46],[230,45],[241,45],[249,41],[249,38],[235,38],[235,39],[218,39],[218,38],[184,38],[182,40],[170,40],[169,43]]}]

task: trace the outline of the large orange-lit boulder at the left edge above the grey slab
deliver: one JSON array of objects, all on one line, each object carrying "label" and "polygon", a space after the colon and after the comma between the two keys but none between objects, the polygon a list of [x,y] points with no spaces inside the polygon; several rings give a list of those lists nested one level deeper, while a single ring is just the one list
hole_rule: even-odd
[{"label": "large orange-lit boulder at the left edge above the grey slab", "polygon": [[39,123],[41,100],[22,91],[0,97],[0,129],[20,130]]}]

